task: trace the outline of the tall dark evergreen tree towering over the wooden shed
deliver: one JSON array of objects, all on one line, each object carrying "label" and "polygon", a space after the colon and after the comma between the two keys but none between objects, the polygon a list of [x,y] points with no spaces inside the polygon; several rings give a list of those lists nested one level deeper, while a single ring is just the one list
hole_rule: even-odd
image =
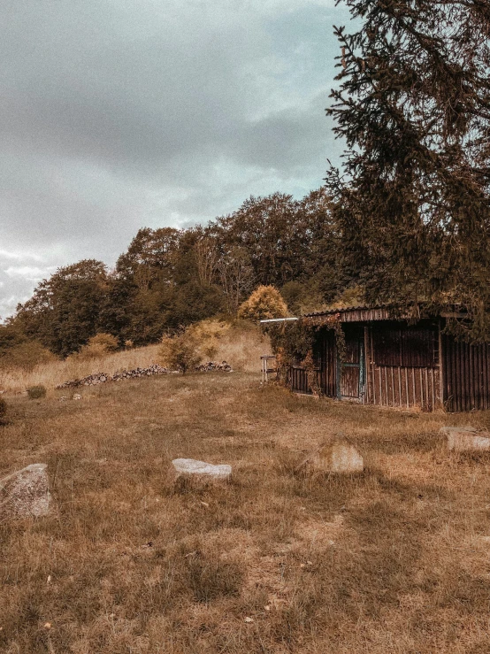
[{"label": "tall dark evergreen tree towering over the wooden shed", "polygon": [[[340,0],[339,0],[340,1]],[[490,3],[345,0],[327,113],[348,145],[327,186],[371,303],[450,309],[490,337]]]}]

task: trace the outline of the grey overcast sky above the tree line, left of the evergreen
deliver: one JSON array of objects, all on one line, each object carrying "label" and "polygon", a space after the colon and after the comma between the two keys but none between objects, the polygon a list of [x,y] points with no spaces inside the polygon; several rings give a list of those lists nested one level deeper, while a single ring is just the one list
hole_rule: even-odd
[{"label": "grey overcast sky above the tree line, left of the evergreen", "polygon": [[338,160],[334,0],[3,0],[0,316],[140,227],[301,197]]}]

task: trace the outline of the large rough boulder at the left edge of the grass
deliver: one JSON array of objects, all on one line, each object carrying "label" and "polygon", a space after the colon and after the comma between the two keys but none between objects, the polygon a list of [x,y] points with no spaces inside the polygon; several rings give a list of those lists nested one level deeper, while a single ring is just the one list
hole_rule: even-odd
[{"label": "large rough boulder at the left edge of the grass", "polygon": [[0,480],[0,515],[36,518],[50,512],[47,465],[36,463]]}]

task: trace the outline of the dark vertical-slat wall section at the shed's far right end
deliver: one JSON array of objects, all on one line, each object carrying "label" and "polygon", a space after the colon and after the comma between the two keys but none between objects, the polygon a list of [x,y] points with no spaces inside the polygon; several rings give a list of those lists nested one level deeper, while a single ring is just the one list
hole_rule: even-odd
[{"label": "dark vertical-slat wall section at the shed's far right end", "polygon": [[444,406],[449,412],[490,408],[490,344],[442,335]]}]

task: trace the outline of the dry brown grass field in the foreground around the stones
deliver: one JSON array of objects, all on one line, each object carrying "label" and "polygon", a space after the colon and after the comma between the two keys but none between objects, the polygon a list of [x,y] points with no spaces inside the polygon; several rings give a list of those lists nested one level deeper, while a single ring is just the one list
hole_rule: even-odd
[{"label": "dry brown grass field in the foreground around the stones", "polygon": [[[256,373],[81,392],[10,396],[0,427],[0,473],[48,463],[55,507],[0,524],[2,652],[490,651],[490,457],[438,436],[490,414],[315,401]],[[297,469],[339,431],[364,473]],[[176,482],[177,457],[233,481]]]}]

